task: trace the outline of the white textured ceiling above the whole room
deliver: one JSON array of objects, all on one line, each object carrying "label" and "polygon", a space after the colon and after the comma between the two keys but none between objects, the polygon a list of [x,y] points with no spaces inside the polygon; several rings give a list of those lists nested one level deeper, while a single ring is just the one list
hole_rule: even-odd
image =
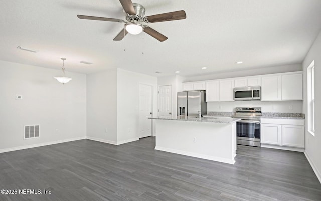
[{"label": "white textured ceiling above the whole room", "polygon": [[145,16],[185,10],[187,18],[149,24],[169,38],[164,42],[144,32],[113,41],[122,23],[77,14],[125,19],[119,0],[6,0],[0,7],[0,60],[61,69],[65,57],[66,71],[79,73],[118,67],[193,76],[301,63],[321,30],[321,0],[133,2],[145,7]]}]

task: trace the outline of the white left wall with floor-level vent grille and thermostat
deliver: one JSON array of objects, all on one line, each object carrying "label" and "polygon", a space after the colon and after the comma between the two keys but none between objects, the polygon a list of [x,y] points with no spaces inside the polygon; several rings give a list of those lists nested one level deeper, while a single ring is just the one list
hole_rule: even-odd
[{"label": "white left wall with floor-level vent grille and thermostat", "polygon": [[[66,72],[73,80],[62,85],[53,78],[60,68],[5,61],[0,74],[0,152],[86,137],[86,75]],[[24,126],[35,124],[40,137],[24,139]]]}]

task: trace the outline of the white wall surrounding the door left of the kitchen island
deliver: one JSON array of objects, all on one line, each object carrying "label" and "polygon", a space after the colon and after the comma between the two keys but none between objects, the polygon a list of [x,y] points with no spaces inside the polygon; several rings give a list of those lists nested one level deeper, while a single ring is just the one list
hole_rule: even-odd
[{"label": "white wall surrounding the door left of the kitchen island", "polygon": [[[139,139],[139,83],[153,86],[153,113],[157,108],[157,78],[117,69],[117,144]],[[155,126],[153,125],[153,133]]]}]

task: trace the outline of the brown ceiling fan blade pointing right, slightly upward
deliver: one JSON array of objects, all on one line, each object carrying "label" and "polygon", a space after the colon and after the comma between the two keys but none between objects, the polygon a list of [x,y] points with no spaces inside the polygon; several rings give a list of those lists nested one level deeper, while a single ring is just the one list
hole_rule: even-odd
[{"label": "brown ceiling fan blade pointing right, slightly upward", "polygon": [[186,13],[184,10],[144,17],[144,21],[146,23],[155,23],[155,22],[172,21],[172,20],[180,20],[180,19],[186,19]]}]

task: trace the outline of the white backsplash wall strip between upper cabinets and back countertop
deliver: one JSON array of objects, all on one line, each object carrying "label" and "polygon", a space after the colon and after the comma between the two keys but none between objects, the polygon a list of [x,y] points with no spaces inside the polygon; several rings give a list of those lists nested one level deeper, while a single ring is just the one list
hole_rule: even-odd
[{"label": "white backsplash wall strip between upper cabinets and back countertop", "polygon": [[[292,106],[292,109],[290,109]],[[302,101],[208,102],[207,111],[233,112],[235,107],[262,107],[262,112],[302,113]]]}]

